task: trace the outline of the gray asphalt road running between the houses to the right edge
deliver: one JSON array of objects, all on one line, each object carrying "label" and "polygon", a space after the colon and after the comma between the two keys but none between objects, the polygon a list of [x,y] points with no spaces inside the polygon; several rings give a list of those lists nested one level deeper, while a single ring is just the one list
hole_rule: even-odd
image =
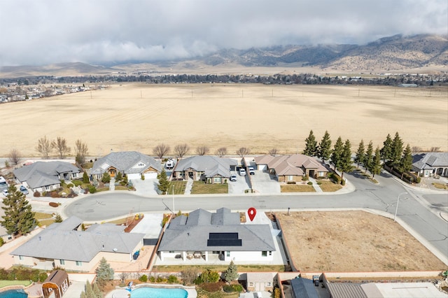
[{"label": "gray asphalt road running between the houses to the right edge", "polygon": [[[262,211],[322,210],[336,208],[367,208],[374,211],[395,213],[398,196],[397,218],[411,227],[419,240],[427,241],[448,259],[448,222],[440,216],[448,212],[448,195],[434,194],[416,187],[403,185],[388,173],[375,176],[376,185],[357,174],[345,174],[355,190],[342,194],[279,194],[279,195],[189,195],[174,196],[174,211],[192,211],[197,208],[216,210],[227,207],[246,211],[255,207]],[[403,193],[403,192],[407,192]],[[77,199],[64,206],[66,216],[76,215],[89,222],[101,222],[123,215],[145,212],[170,211],[172,196],[139,197],[131,192],[94,194]],[[412,252],[409,252],[412,253]]]}]

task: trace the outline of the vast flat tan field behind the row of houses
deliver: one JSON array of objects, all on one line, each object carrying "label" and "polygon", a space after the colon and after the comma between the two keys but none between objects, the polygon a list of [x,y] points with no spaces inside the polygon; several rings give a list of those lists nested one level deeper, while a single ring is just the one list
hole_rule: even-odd
[{"label": "vast flat tan field behind the row of houses", "polygon": [[[437,89],[438,88],[438,89]],[[360,139],[381,146],[399,132],[405,144],[448,150],[446,87],[399,88],[336,85],[179,84],[112,85],[108,90],[0,105],[0,156],[17,148],[38,157],[42,136],[63,136],[74,146],[82,139],[90,155],[111,150],[153,154],[167,143],[206,145],[229,154],[241,146],[254,154],[277,148],[300,152],[310,129],[320,141]],[[56,156],[56,154],[54,154]]]}]

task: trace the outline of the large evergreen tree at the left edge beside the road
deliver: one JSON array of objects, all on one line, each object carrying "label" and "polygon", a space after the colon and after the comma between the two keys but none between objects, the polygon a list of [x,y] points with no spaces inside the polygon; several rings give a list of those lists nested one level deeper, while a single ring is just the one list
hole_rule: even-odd
[{"label": "large evergreen tree at the left edge beside the road", "polygon": [[25,194],[17,190],[15,185],[11,184],[8,187],[8,195],[3,199],[1,208],[5,211],[5,215],[1,216],[3,220],[0,221],[0,224],[8,234],[14,236],[27,234],[34,227],[35,213],[32,211]]}]

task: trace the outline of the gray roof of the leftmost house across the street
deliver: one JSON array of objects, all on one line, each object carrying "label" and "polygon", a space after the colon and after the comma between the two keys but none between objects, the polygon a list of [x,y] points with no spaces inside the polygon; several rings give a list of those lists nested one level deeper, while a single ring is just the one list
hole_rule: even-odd
[{"label": "gray roof of the leftmost house across the street", "polygon": [[14,170],[14,176],[20,183],[27,182],[29,187],[37,188],[59,183],[60,173],[79,173],[80,169],[69,162],[34,162]]}]

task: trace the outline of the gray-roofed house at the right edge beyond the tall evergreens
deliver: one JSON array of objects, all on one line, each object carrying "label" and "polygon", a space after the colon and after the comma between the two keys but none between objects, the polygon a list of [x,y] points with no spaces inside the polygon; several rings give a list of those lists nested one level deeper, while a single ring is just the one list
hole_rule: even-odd
[{"label": "gray-roofed house at the right edge beyond the tall evergreens", "polygon": [[412,171],[421,177],[448,177],[448,152],[425,152],[413,155]]}]

